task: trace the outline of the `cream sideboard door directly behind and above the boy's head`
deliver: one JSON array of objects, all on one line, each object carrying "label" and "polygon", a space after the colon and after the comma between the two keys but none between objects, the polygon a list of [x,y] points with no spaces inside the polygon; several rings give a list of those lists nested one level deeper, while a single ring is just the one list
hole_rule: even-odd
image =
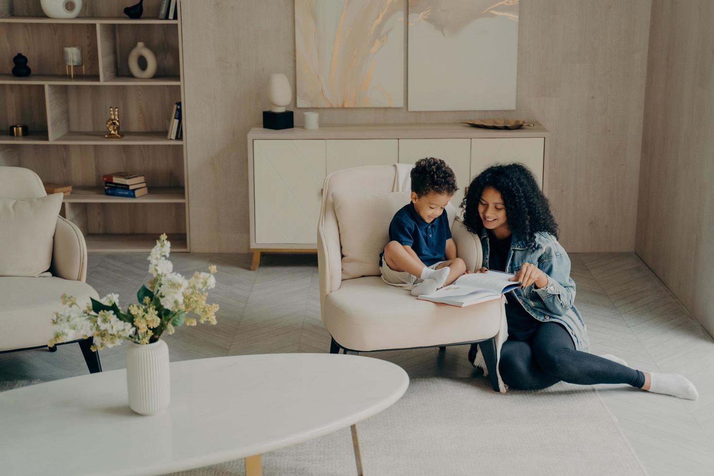
[{"label": "cream sideboard door directly behind and above the boy's head", "polygon": [[461,206],[463,191],[471,181],[470,139],[399,139],[399,163],[416,163],[420,158],[436,157],[447,163],[456,175],[458,191],[451,198],[457,209]]}]

